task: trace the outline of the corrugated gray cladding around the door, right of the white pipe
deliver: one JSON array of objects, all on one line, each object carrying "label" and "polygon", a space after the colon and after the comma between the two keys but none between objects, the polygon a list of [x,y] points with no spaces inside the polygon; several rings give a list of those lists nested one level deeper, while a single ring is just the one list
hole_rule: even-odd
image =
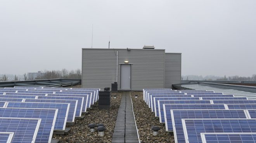
[{"label": "corrugated gray cladding around the door, right of the white pipe", "polygon": [[118,50],[118,89],[120,64],[131,64],[131,90],[164,88],[164,50]]}]

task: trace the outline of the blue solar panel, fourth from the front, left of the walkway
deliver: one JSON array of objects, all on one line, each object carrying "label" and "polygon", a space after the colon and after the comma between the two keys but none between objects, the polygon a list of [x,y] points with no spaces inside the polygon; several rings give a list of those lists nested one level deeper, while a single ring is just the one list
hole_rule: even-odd
[{"label": "blue solar panel, fourth from the front, left of the walkway", "polygon": [[58,109],[54,130],[65,130],[69,111],[69,104],[67,103],[7,102],[6,107]]}]

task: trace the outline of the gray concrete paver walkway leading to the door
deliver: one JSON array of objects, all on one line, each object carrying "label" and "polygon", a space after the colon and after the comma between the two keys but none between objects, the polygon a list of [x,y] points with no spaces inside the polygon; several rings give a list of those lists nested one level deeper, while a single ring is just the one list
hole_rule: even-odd
[{"label": "gray concrete paver walkway leading to the door", "polygon": [[112,143],[138,143],[130,92],[123,92]]}]

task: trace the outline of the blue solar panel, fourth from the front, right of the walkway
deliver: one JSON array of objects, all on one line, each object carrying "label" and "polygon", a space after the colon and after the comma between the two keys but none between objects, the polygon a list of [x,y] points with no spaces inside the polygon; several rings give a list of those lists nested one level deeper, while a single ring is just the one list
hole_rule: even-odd
[{"label": "blue solar panel, fourth from the front, right of the walkway", "polygon": [[[163,104],[162,107],[159,112],[160,123],[171,123],[171,110],[175,109],[226,109],[224,104]],[[168,125],[165,126],[168,129]],[[172,124],[170,127],[172,128]]]}]

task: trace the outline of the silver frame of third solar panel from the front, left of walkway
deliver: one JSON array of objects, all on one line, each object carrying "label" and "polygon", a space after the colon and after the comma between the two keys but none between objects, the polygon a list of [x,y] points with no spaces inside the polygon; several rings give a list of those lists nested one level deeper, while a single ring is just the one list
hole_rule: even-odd
[{"label": "silver frame of third solar panel from the front, left of walkway", "polygon": [[[56,118],[57,118],[58,109],[52,109],[52,108],[16,108],[16,107],[0,107],[0,109],[55,110],[53,123],[52,123],[52,127],[51,127],[50,134],[49,134],[48,143],[50,143],[50,141],[52,140],[52,134],[53,134],[53,131],[54,131],[54,126],[55,126],[55,121],[56,121]],[[5,116],[6,115],[7,115],[7,113],[5,112]],[[29,116],[29,115],[26,115],[26,116]],[[21,117],[21,118],[23,118],[23,117]],[[26,117],[26,118],[30,118],[30,117]],[[35,118],[35,117],[31,117],[31,118]],[[35,118],[35,119],[37,119],[37,118]],[[42,122],[42,118],[40,118],[40,119],[41,119],[41,122]],[[47,120],[47,119],[45,118],[45,120]],[[41,125],[43,126],[43,124],[40,123],[40,126],[38,128],[38,132],[39,132],[40,127],[42,127]],[[45,126],[43,126],[43,128],[45,128]],[[38,134],[36,135],[36,137],[38,137]],[[38,138],[36,138],[36,139],[38,139]],[[41,142],[42,141],[40,141],[40,143]]]}]

